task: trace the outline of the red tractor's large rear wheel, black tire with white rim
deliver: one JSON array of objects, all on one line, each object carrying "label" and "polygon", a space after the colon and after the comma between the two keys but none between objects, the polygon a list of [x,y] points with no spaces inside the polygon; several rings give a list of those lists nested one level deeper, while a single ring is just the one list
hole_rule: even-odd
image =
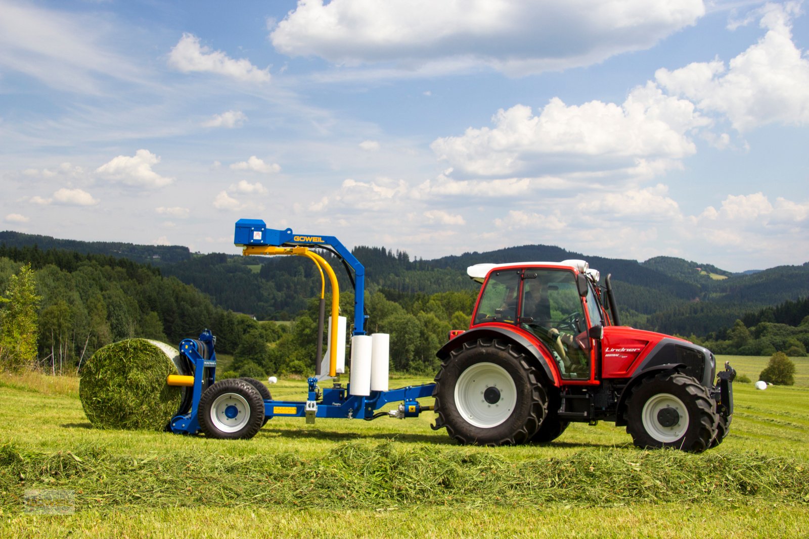
[{"label": "red tractor's large rear wheel, black tire with white rim", "polygon": [[437,426],[461,444],[515,445],[531,440],[548,410],[539,373],[501,339],[455,348],[435,376]]}]

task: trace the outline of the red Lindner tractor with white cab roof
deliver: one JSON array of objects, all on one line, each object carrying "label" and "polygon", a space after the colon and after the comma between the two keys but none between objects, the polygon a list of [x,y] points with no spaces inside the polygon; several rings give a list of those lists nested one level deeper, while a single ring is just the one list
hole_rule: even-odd
[{"label": "red Lindner tractor with white cab roof", "polygon": [[[434,428],[462,444],[543,443],[613,421],[637,446],[699,452],[733,414],[729,364],[684,339],[621,326],[610,276],[582,260],[477,264],[472,322],[438,351]],[[716,379],[716,383],[714,383]]]}]

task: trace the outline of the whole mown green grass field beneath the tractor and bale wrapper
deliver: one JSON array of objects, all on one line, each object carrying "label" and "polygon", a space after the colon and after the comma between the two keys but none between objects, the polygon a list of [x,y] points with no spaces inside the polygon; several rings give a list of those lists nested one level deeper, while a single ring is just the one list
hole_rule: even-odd
[{"label": "whole mown green grass field beneath the tractor and bale wrapper", "polygon": [[[767,360],[719,359],[754,381]],[[234,441],[100,431],[76,379],[3,376],[0,537],[803,537],[809,361],[795,362],[792,387],[736,384],[731,435],[699,455],[634,448],[609,423],[460,447],[430,414],[275,418]],[[270,389],[305,397],[305,381]],[[74,492],[75,513],[23,513],[43,488]]]}]

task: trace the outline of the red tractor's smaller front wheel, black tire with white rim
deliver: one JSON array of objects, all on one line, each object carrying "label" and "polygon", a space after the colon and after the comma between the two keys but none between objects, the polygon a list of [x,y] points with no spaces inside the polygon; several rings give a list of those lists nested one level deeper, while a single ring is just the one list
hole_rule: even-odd
[{"label": "red tractor's smaller front wheel, black tire with white rim", "polygon": [[641,381],[626,402],[626,432],[642,448],[699,453],[717,433],[716,403],[693,377],[667,371]]}]

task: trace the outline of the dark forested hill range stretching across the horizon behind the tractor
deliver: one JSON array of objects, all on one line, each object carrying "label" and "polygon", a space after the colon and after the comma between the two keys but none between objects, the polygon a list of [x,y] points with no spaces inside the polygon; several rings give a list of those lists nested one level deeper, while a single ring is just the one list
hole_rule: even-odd
[{"label": "dark forested hill range stretching across the horizon behind the tractor", "polygon": [[[11,234],[11,235],[10,235]],[[11,242],[7,239],[11,238]],[[239,255],[192,255],[185,247],[133,246],[104,242],[73,242],[18,233],[0,234],[0,246],[36,244],[79,252],[102,252],[125,256],[129,252],[158,265],[164,276],[175,276],[207,293],[216,305],[260,319],[290,319],[320,292],[320,275],[310,261],[298,257],[241,257]],[[6,247],[7,248],[7,247]],[[105,251],[106,250],[106,251]],[[561,261],[584,259],[602,276],[612,274],[622,322],[633,326],[676,333],[707,335],[732,326],[736,319],[784,301],[809,296],[809,263],[772,267],[754,273],[734,274],[709,263],[673,257],[655,257],[645,262],[610,259],[566,251],[558,246],[526,245],[489,252],[472,252],[439,259],[410,259],[404,251],[358,246],[354,255],[366,267],[366,289],[382,291],[398,302],[417,301],[419,295],[447,291],[474,294],[477,285],[466,275],[476,263]],[[324,254],[327,259],[331,255]],[[350,289],[349,279],[337,260],[332,260],[341,289]],[[415,299],[414,299],[415,298]]]}]

